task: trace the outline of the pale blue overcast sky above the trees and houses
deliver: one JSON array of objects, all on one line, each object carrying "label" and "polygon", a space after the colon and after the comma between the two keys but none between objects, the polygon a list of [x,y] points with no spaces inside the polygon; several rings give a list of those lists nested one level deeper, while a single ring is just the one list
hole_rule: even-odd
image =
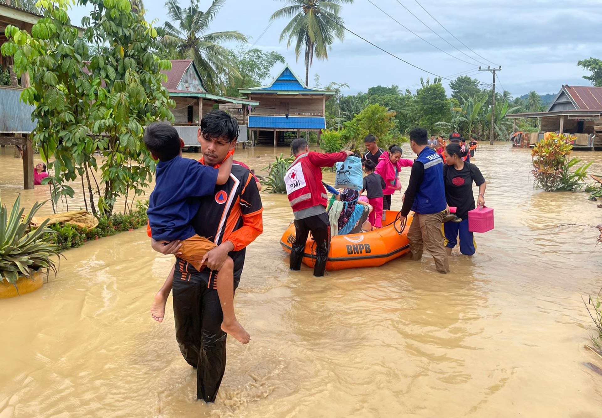
[{"label": "pale blue overcast sky above the trees and houses", "polygon": [[[530,90],[540,94],[557,93],[562,84],[590,85],[582,79],[585,72],[577,66],[583,58],[602,58],[602,2],[600,0],[418,0],[435,19],[452,32],[480,58],[448,34],[416,0],[370,0],[415,34],[447,52],[421,40],[378,10],[368,0],[355,0],[344,5],[341,16],[351,31],[370,40],[391,54],[415,66],[454,79],[459,73],[491,84],[489,72],[479,73],[479,65],[501,66],[496,89],[521,96]],[[296,62],[294,50],[279,42],[287,20],[274,22],[258,40],[269,24],[272,13],[286,0],[228,0],[210,30],[238,30],[251,38],[250,43],[266,51],[278,51],[291,64],[297,75],[303,77],[303,57]],[[182,5],[186,4],[184,1]],[[209,0],[200,0],[205,10]],[[462,54],[430,31],[412,16],[405,5],[426,25],[441,35]],[[144,0],[146,19],[157,19],[162,25],[166,9],[161,0]],[[85,9],[71,13],[75,23],[81,22]],[[471,58],[469,58],[471,57]],[[491,61],[489,61],[491,60]],[[274,72],[280,68],[275,68]],[[415,91],[420,77],[433,78],[427,72],[415,69],[365,41],[347,32],[343,43],[337,41],[329,52],[329,60],[314,60],[309,70],[310,85],[314,75],[320,75],[322,85],[330,81],[346,82],[346,93],[366,91],[374,85],[399,85]],[[448,81],[444,79],[445,87]]]}]

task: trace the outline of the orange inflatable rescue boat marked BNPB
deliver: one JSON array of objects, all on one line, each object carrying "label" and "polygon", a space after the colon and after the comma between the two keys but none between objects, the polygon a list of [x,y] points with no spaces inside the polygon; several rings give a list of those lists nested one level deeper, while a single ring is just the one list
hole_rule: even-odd
[{"label": "orange inflatable rescue boat marked BNPB", "polygon": [[[386,220],[380,229],[359,234],[337,235],[330,239],[330,250],[326,270],[342,270],[356,267],[376,267],[403,256],[409,251],[408,230],[412,223],[412,215],[402,233],[402,224],[396,220],[396,211],[386,211]],[[295,240],[295,225],[291,223],[282,235],[280,245],[288,254],[291,253]],[[315,263],[315,242],[308,237],[303,254],[303,263],[313,267]]]}]

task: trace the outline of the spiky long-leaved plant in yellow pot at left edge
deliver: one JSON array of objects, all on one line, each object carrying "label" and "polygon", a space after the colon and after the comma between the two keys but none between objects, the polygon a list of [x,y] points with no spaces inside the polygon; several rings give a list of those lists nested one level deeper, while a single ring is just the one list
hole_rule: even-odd
[{"label": "spiky long-leaved plant in yellow pot at left edge", "polygon": [[11,211],[0,198],[0,281],[15,284],[19,276],[29,277],[40,269],[57,271],[52,256],[58,256],[58,247],[52,242],[53,230],[46,228],[45,220],[37,229],[29,223],[44,203],[34,203],[23,217],[20,195]]}]

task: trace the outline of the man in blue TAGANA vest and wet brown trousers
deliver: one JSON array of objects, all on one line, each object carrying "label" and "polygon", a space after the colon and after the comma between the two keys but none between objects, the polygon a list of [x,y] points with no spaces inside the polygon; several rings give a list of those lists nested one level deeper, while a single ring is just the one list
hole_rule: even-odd
[{"label": "man in blue TAGANA vest and wet brown trousers", "polygon": [[428,143],[426,129],[416,128],[410,132],[410,146],[418,158],[412,165],[400,215],[403,221],[410,211],[414,211],[408,231],[412,260],[420,260],[426,247],[435,259],[437,271],[448,273],[450,267],[441,232],[441,223],[447,215],[443,159],[429,148]]}]

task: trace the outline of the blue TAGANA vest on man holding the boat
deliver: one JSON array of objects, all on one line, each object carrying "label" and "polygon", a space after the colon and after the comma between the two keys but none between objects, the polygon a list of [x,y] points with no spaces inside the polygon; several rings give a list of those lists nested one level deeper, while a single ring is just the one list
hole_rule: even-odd
[{"label": "blue TAGANA vest on man holding the boat", "polygon": [[443,159],[435,151],[426,147],[416,161],[424,164],[424,178],[418,188],[412,211],[417,214],[437,214],[447,207],[443,182]]}]

